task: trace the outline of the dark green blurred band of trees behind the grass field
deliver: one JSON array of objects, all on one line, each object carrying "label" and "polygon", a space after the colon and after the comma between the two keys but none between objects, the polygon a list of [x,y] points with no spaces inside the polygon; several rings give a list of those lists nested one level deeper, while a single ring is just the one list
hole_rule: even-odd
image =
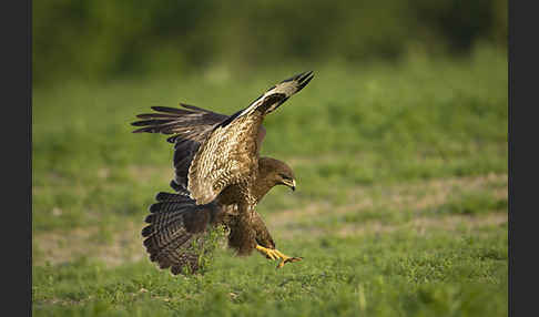
[{"label": "dark green blurred band of trees behind the grass field", "polygon": [[507,47],[506,0],[33,3],[33,81],[256,72],[282,63],[398,63]]}]

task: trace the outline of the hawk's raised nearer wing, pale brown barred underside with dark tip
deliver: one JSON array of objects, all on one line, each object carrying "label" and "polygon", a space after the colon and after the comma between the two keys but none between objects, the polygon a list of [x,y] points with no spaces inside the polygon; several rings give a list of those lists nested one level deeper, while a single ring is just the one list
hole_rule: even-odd
[{"label": "hawk's raised nearer wing, pale brown barred underside with dark tip", "polygon": [[226,186],[250,180],[257,170],[260,127],[275,111],[313,79],[304,72],[268,89],[246,109],[215,125],[193,156],[187,190],[196,204],[212,202]]}]

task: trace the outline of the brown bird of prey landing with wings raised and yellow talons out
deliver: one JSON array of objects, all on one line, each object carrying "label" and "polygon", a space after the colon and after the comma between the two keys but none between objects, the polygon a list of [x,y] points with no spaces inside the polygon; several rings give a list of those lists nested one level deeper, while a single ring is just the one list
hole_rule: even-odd
[{"label": "brown bird of prey landing with wings raised and yellow talons out", "polygon": [[237,255],[254,249],[266,258],[285,263],[301,260],[275,248],[256,204],[276,185],[296,187],[294,173],[284,162],[261,157],[265,136],[262,125],[275,111],[313,79],[313,72],[294,75],[270,88],[247,108],[232,115],[180,103],[181,109],[152,106],[139,114],[142,126],[134,133],[171,134],[174,144],[175,193],[157,193],[142,229],[150,259],[176,275],[199,270],[201,244],[212,227],[223,225],[228,247]]}]

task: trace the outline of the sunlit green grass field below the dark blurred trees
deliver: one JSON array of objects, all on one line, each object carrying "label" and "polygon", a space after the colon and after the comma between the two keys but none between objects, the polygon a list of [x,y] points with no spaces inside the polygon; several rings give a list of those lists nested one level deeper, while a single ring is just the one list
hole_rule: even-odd
[{"label": "sunlit green grass field below the dark blurred trees", "polygon": [[[150,263],[140,231],[169,191],[172,146],[132,134],[151,105],[244,108],[268,86],[315,79],[265,121],[263,155],[297,190],[258,205],[281,250],[218,249],[203,276]],[[34,316],[507,316],[507,60],[292,65],[240,78],[34,88]]]}]

